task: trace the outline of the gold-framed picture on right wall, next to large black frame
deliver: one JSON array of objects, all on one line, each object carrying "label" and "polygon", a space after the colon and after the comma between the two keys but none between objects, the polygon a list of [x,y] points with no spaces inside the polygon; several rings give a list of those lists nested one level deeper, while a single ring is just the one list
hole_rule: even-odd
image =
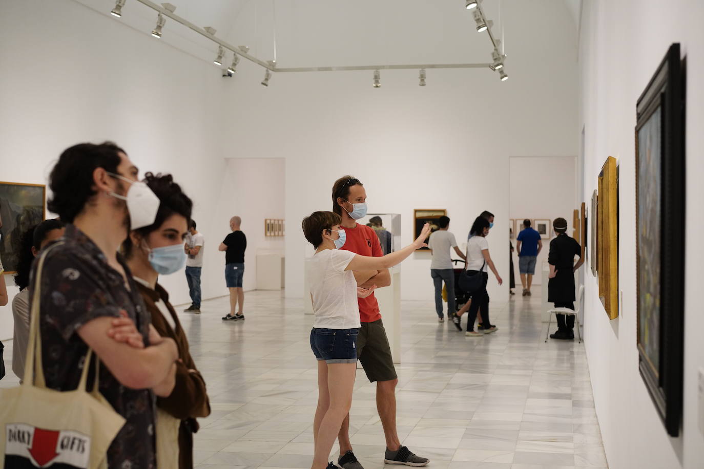
[{"label": "gold-framed picture on right wall, next to large black frame", "polygon": [[618,177],[608,157],[598,178],[599,299],[609,319],[618,317]]}]

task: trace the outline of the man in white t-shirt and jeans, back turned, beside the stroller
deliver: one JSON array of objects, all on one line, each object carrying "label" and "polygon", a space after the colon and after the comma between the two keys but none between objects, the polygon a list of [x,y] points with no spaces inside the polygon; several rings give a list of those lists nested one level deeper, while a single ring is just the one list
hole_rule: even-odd
[{"label": "man in white t-shirt and jeans, back turned, beside the stroller", "polygon": [[432,251],[432,262],[430,262],[430,276],[433,278],[435,286],[435,312],[438,315],[438,322],[443,322],[442,312],[442,283],[445,282],[447,288],[447,315],[451,317],[455,313],[455,271],[451,259],[450,248],[455,248],[455,253],[466,260],[465,253],[457,247],[455,235],[448,231],[450,228],[450,218],[440,217],[438,219],[440,229],[430,235],[428,247]]}]

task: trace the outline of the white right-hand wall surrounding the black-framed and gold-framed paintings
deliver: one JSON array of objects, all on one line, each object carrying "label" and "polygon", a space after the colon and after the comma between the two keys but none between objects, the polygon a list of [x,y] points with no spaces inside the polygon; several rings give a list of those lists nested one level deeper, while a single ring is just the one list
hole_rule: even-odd
[{"label": "white right-hand wall surrounding the black-framed and gold-framed paintings", "polygon": [[[622,307],[609,321],[596,278],[586,274],[584,337],[596,413],[612,469],[701,468],[704,435],[698,416],[698,369],[704,368],[701,314],[701,233],[704,200],[704,4],[674,0],[585,1],[579,48],[581,114],[585,134],[584,195],[591,200],[598,172],[612,155],[620,166],[619,289]],[[636,101],[667,49],[681,43],[687,58],[686,234],[684,311],[684,426],[667,435],[638,371],[636,349]],[[667,318],[665,318],[667,320]]]}]

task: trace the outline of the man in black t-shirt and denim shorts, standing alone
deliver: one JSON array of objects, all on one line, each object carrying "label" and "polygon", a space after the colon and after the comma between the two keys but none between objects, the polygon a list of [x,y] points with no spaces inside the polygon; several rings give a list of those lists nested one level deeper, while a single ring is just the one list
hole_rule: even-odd
[{"label": "man in black t-shirt and denim shorts, standing alone", "polygon": [[[242,290],[242,278],[244,277],[244,250],[247,248],[247,237],[241,229],[240,217],[230,219],[230,229],[232,233],[225,236],[225,240],[220,243],[218,250],[225,251],[225,283],[230,290],[230,312],[222,316],[225,321],[244,321],[242,305],[244,304],[244,290]],[[234,313],[239,303],[239,311]]]}]

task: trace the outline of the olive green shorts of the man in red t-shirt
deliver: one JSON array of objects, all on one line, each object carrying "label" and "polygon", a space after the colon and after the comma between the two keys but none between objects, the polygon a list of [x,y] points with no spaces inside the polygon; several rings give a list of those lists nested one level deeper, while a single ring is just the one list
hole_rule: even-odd
[{"label": "olive green shorts of the man in red t-shirt", "polygon": [[386,330],[381,319],[372,323],[362,323],[357,336],[357,358],[364,372],[367,373],[370,383],[398,378],[389,339],[386,338]]}]

